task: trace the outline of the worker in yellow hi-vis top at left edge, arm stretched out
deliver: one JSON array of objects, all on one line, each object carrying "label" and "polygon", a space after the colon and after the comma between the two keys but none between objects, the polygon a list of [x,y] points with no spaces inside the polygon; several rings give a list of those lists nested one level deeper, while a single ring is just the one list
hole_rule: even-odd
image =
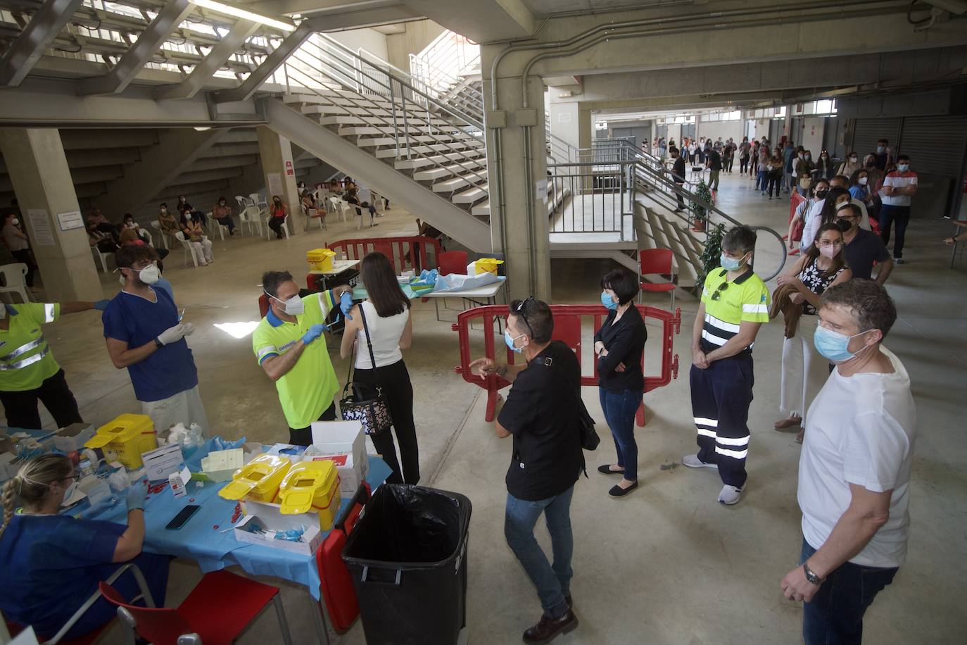
[{"label": "worker in yellow hi-vis top at left edge, arm stretched out", "polygon": [[64,313],[101,309],[97,303],[21,303],[0,306],[0,403],[7,425],[40,429],[38,399],[57,427],[81,421],[64,370],[44,338],[43,326]]}]

